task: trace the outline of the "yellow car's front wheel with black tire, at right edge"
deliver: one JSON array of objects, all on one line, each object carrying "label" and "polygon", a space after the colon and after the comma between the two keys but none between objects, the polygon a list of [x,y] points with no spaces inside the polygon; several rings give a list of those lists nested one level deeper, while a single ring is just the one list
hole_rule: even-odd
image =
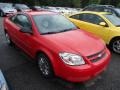
[{"label": "yellow car's front wheel with black tire, at right edge", "polygon": [[120,54],[120,38],[114,39],[110,43],[110,48],[117,54]]}]

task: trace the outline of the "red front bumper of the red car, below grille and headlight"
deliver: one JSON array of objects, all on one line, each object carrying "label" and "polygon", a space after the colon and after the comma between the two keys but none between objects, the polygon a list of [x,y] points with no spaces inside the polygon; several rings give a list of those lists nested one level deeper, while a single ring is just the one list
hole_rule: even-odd
[{"label": "red front bumper of the red car, below grille and headlight", "polygon": [[106,49],[106,56],[101,60],[81,66],[62,65],[59,69],[59,77],[71,82],[85,82],[98,76],[106,70],[111,54]]}]

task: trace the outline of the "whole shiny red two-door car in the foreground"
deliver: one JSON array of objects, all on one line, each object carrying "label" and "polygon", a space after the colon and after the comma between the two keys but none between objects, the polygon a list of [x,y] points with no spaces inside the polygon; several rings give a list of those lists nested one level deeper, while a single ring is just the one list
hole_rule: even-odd
[{"label": "whole shiny red two-door car in the foreground", "polygon": [[110,52],[104,42],[53,12],[24,12],[4,19],[7,43],[38,61],[41,74],[85,82],[103,72]]}]

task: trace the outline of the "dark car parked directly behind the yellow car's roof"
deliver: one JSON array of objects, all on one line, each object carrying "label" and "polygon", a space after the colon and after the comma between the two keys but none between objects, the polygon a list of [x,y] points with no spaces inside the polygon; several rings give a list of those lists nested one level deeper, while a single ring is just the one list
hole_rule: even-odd
[{"label": "dark car parked directly behind the yellow car's roof", "polygon": [[83,11],[110,12],[120,17],[120,8],[115,8],[112,5],[90,5],[85,7]]}]

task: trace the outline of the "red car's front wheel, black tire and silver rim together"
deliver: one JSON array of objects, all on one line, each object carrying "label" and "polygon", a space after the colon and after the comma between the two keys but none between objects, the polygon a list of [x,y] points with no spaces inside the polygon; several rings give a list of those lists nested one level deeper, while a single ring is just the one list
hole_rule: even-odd
[{"label": "red car's front wheel, black tire and silver rim together", "polygon": [[50,60],[45,54],[38,55],[38,67],[43,77],[52,78],[54,76]]}]

